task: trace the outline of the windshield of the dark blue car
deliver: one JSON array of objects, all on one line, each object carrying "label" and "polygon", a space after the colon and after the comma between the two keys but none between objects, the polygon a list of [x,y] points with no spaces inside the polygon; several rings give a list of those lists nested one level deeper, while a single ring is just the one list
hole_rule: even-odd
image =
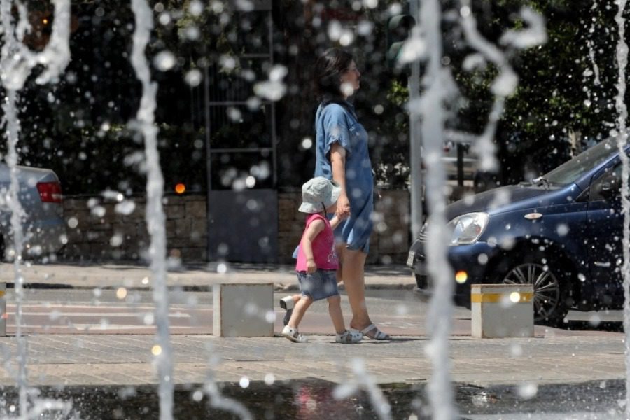
[{"label": "windshield of the dark blue car", "polygon": [[587,172],[589,169],[608,159],[610,155],[616,151],[617,139],[610,137],[610,139],[605,139],[586,151],[583,151],[568,162],[564,162],[542,177],[552,184],[566,185],[573,183],[577,181],[584,172]]}]

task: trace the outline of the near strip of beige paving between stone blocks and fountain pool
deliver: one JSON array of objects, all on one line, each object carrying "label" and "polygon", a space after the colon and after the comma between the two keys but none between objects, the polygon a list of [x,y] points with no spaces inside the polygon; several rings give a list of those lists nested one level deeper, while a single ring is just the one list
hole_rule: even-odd
[{"label": "near strip of beige paving between stone blocks and fountain pool", "polygon": [[[173,336],[174,382],[201,384],[212,373],[217,381],[232,383],[243,377],[264,381],[268,375],[276,380],[317,378],[342,383],[353,377],[357,361],[381,384],[423,383],[432,374],[426,337],[360,344],[337,344],[326,335],[309,339],[307,344],[293,344],[283,337]],[[38,335],[27,342],[29,384],[34,386],[157,383],[152,336]],[[11,362],[0,368],[0,386],[12,386],[17,372],[15,338],[0,338],[0,344],[11,353]],[[452,337],[449,347],[453,381],[476,386],[624,379],[626,369],[621,335]]]}]

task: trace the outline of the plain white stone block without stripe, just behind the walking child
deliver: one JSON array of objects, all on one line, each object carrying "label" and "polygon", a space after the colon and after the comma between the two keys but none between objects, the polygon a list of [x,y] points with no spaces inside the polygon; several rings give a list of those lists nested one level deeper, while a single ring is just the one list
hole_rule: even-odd
[{"label": "plain white stone block without stripe, just behind the walking child", "polygon": [[273,337],[273,283],[218,283],[212,288],[215,337]]}]

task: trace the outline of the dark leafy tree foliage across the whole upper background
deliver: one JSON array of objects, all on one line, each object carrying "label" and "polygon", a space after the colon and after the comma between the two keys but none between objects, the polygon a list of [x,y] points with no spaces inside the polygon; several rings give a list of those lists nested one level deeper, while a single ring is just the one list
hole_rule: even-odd
[{"label": "dark leafy tree foliage across the whole upper background", "polygon": [[[329,16],[335,8],[351,10],[352,3],[360,2],[273,1],[274,63],[288,68],[287,94],[276,103],[273,146],[278,152],[279,186],[299,186],[313,172],[313,149],[304,148],[307,142],[302,141],[314,136],[317,104],[309,85],[315,58],[334,45],[328,37],[328,24],[318,23],[316,17],[324,9]],[[383,185],[402,187],[409,176],[407,79],[385,65],[385,27],[395,3],[404,2],[379,2],[377,8],[357,12],[356,24],[368,22],[372,29],[356,36],[351,50],[363,73],[356,108],[370,134],[377,179]],[[197,10],[200,4],[202,10]],[[269,40],[254,30],[263,22],[227,19],[230,13],[220,10],[225,4],[228,2],[152,2],[156,29],[147,55],[154,57],[168,50],[177,59],[169,71],[153,71],[160,84],[156,118],[167,184],[185,182],[193,190],[205,188],[204,87],[186,83],[189,72],[203,74],[208,69],[209,85],[216,90],[211,94],[220,95],[227,86],[239,94],[236,99],[248,99],[253,96],[253,83],[265,79],[271,66],[268,60],[243,56],[265,49]],[[523,27],[517,15],[523,6],[538,10],[547,21],[549,40],[545,45],[510,52],[507,57],[519,76],[519,86],[507,100],[495,139],[501,162],[498,176],[503,183],[545,172],[574,150],[608,136],[616,120],[615,3],[482,0],[473,1],[472,6],[479,31],[492,43],[498,43],[506,29]],[[488,64],[474,72],[463,71],[463,59],[473,51],[456,23],[460,7],[458,0],[442,2],[443,62],[450,66],[460,92],[449,103],[448,125],[479,134],[492,104],[489,85],[497,69]],[[132,13],[128,3],[120,6],[113,0],[73,3],[73,13],[73,58],[63,80],[45,87],[30,82],[22,92],[22,163],[55,169],[66,193],[97,193],[106,188],[140,192],[144,190],[141,165],[125,162],[132,162],[129,156],[141,151],[142,145],[122,128],[134,118],[140,97],[129,64]],[[235,65],[223,65],[226,57],[235,58]],[[248,74],[253,78],[239,76],[243,69],[251,69]],[[255,120],[241,118],[245,123],[237,126],[230,124],[238,119],[234,118],[237,111],[247,113],[248,109],[211,114],[211,141],[235,147],[263,141],[261,146],[271,146],[269,113],[265,111],[265,117]],[[0,153],[3,147],[0,142]]]}]

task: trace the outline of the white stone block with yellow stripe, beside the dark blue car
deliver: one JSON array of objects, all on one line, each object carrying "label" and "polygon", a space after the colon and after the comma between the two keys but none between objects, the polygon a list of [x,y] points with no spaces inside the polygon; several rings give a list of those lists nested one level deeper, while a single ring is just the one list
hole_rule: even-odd
[{"label": "white stone block with yellow stripe, beside the dark blue car", "polygon": [[472,284],[472,337],[533,337],[533,285]]}]

